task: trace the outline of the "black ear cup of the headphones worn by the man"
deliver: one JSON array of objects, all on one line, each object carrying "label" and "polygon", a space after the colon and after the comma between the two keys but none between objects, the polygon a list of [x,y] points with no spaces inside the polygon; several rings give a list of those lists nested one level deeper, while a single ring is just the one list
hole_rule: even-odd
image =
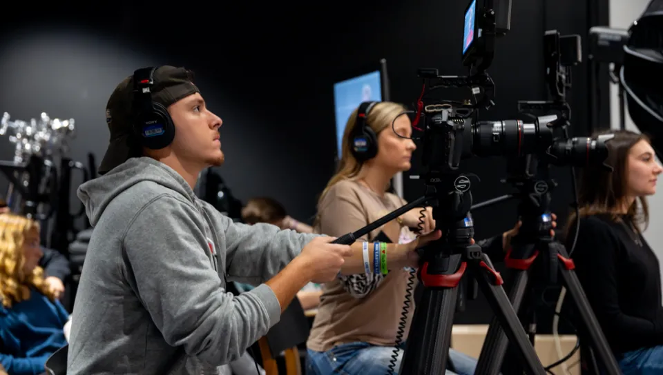
[{"label": "black ear cup of the headphones worn by the man", "polygon": [[138,137],[151,150],[168,147],[175,139],[175,125],[168,110],[160,103],[152,104],[152,112],[140,114],[137,119]]}]

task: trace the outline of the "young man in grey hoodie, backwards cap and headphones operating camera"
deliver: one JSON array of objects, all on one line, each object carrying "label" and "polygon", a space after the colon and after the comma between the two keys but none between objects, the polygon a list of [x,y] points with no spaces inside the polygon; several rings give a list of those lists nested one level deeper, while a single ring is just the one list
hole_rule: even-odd
[{"label": "young man in grey hoodie, backwards cap and headphones operating camera", "polygon": [[[137,70],[106,109],[111,143],[78,196],[95,227],[73,311],[68,374],[222,374],[278,322],[297,292],[364,272],[360,243],[233,223],[200,201],[221,165],[221,119],[184,68]],[[389,267],[416,265],[388,245]],[[372,263],[372,254],[369,255]],[[241,296],[230,281],[258,285]]]}]

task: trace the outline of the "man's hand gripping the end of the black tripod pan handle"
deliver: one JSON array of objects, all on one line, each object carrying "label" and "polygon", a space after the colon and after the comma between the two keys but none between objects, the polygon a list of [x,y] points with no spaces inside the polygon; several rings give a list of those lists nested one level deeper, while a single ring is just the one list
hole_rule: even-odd
[{"label": "man's hand gripping the end of the black tripod pan handle", "polygon": [[305,267],[305,272],[311,275],[314,283],[327,283],[333,281],[345,263],[345,258],[352,255],[349,245],[331,243],[334,237],[316,237],[302,249],[297,256]]}]

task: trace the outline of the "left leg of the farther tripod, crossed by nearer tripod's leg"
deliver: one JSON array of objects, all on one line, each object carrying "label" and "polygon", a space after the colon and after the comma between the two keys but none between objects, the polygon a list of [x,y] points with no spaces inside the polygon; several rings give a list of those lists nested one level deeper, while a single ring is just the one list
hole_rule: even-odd
[{"label": "left leg of the farther tripod, crossed by nearer tripod's leg", "polygon": [[[510,254],[506,256],[507,266],[515,268],[513,271],[513,286],[509,292],[509,301],[516,313],[520,312],[521,303],[528,287],[529,269],[537,255],[538,253],[535,252],[534,255],[526,259],[512,259],[512,261],[510,261]],[[477,374],[499,374],[508,346],[509,341],[502,330],[499,318],[493,316],[488,327],[486,340],[483,341],[481,355],[479,355]]]}]

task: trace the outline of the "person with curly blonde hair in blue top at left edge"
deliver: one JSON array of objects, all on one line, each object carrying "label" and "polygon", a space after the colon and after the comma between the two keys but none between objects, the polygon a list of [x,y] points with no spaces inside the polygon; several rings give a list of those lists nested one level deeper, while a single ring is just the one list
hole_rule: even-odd
[{"label": "person with curly blonde hair in blue top at left edge", "polygon": [[44,281],[39,224],[15,214],[0,215],[0,365],[9,374],[41,374],[67,344],[69,314]]}]

